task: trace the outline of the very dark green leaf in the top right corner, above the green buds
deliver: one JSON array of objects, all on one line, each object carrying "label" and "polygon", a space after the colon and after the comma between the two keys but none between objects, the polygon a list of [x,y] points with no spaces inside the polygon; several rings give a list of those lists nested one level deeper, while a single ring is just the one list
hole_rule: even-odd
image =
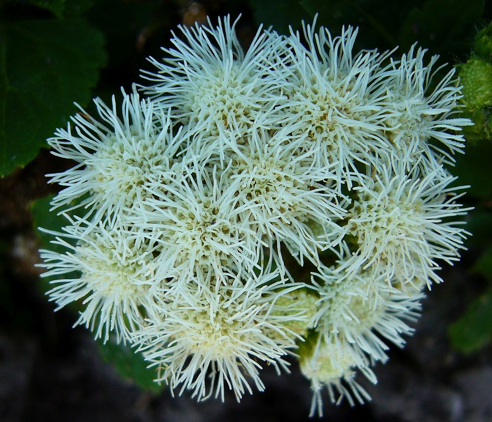
[{"label": "very dark green leaf in the top right corner, above the green buds", "polygon": [[400,46],[405,50],[418,41],[432,54],[447,55],[448,60],[466,55],[484,8],[484,0],[428,0],[408,14],[401,27]]}]

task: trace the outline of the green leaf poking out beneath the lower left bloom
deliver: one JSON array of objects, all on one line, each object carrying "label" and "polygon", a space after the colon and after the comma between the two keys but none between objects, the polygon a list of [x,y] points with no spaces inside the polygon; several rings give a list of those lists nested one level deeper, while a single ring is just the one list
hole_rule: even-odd
[{"label": "green leaf poking out beneath the lower left bloom", "polygon": [[102,358],[106,362],[112,363],[123,378],[133,381],[137,386],[144,390],[158,393],[164,389],[163,384],[157,384],[156,369],[148,368],[148,363],[140,353],[127,345],[116,344],[109,340],[103,344],[97,341],[97,346]]}]

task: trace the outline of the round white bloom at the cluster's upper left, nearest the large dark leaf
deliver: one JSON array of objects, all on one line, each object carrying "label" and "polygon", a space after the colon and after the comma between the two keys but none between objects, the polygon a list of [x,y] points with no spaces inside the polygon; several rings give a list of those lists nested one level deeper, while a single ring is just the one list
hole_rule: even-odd
[{"label": "round white bloom at the cluster's upper left, nearest the large dark leaf", "polygon": [[146,197],[150,182],[165,185],[182,142],[181,132],[173,136],[168,110],[140,100],[135,92],[122,92],[123,116],[114,96],[112,108],[96,98],[100,121],[79,107],[81,113],[71,118],[74,128],[68,124],[48,139],[53,154],[77,162],[69,170],[48,174],[50,182],[65,186],[53,199],[53,208],[69,207],[82,198],[73,208],[89,209],[85,217],[92,218],[92,226],[101,220],[114,225],[123,207]]}]

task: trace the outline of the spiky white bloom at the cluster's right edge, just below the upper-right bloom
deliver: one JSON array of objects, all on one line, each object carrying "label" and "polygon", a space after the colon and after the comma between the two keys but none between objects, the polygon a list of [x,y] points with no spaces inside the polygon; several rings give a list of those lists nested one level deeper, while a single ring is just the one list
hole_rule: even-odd
[{"label": "spiky white bloom at the cluster's right edge, just below the upper-right bloom", "polygon": [[442,281],[435,272],[440,268],[437,260],[452,264],[459,259],[468,234],[455,220],[468,210],[456,202],[463,194],[455,191],[462,187],[450,187],[456,177],[442,167],[425,176],[417,168],[409,174],[403,164],[396,174],[386,168],[354,188],[357,198],[345,227],[358,247],[338,271],[370,268],[375,273],[386,272],[390,281],[398,268],[401,282],[411,282],[424,273],[430,287],[431,281]]}]

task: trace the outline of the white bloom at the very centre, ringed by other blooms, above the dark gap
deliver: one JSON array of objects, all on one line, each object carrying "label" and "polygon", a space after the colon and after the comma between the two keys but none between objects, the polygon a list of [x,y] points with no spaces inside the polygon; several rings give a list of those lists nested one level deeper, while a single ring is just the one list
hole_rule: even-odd
[{"label": "white bloom at the very centre, ringed by other blooms, above the dark gap", "polygon": [[[255,130],[243,144],[235,139],[227,144],[232,165],[225,173],[239,181],[238,197],[247,205],[248,220],[258,225],[273,253],[280,254],[283,242],[301,263],[304,258],[318,263],[318,249],[330,247],[341,235],[338,221],[346,213],[345,198],[334,190],[331,166],[315,167],[309,160],[312,150],[300,152],[305,143],[305,136],[294,137],[287,129],[273,136]],[[312,221],[323,234],[314,235]]]}]

